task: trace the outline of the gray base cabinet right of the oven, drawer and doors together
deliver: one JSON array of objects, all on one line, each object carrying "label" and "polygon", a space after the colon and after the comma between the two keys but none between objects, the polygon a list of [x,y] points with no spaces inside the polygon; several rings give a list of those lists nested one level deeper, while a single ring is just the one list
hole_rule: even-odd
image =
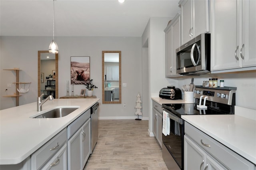
[{"label": "gray base cabinet right of the oven, drawer and doors together", "polygon": [[184,169],[255,170],[254,164],[185,122]]}]

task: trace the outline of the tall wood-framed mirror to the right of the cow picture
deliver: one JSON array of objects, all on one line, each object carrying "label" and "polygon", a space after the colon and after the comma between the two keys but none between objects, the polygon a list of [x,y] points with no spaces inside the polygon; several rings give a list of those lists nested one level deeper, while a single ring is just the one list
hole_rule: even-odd
[{"label": "tall wood-framed mirror to the right of the cow picture", "polygon": [[121,51],[102,51],[102,103],[121,101]]}]

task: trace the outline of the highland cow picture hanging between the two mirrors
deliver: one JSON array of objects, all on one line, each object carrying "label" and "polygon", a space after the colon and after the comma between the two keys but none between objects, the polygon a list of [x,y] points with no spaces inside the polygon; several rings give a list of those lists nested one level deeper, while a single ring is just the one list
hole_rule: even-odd
[{"label": "highland cow picture hanging between the two mirrors", "polygon": [[90,81],[90,57],[70,57],[71,84],[81,85]]}]

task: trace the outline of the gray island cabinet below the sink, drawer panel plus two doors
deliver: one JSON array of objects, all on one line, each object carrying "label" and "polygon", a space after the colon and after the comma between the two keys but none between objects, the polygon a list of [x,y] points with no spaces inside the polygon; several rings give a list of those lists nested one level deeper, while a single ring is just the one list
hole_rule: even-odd
[{"label": "gray island cabinet below the sink, drawer panel plus two doors", "polygon": [[83,170],[90,156],[90,109],[68,126],[68,170]]}]

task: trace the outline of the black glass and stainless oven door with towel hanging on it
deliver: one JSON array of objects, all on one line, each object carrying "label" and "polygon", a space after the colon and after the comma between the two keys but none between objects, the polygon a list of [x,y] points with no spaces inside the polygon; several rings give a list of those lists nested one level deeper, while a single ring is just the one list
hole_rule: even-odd
[{"label": "black glass and stainless oven door with towel hanging on it", "polygon": [[[164,109],[164,111],[167,112],[167,119],[170,119],[170,135],[165,136],[164,134],[162,134],[162,142],[165,146],[165,148],[163,149],[163,158],[167,166],[168,166],[168,162],[170,162],[171,160],[175,160],[179,168],[183,170],[183,167],[184,167],[184,146],[183,146],[184,120],[170,113],[170,111],[167,111],[166,109]],[[170,158],[170,156],[172,158]]]}]

